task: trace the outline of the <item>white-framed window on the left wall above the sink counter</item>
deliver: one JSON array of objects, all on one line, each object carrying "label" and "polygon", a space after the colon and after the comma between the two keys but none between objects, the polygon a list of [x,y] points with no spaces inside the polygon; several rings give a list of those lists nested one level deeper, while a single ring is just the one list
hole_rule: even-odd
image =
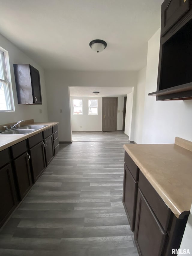
[{"label": "white-framed window on the left wall above the sink counter", "polygon": [[5,53],[0,50],[0,112],[12,110]]}]

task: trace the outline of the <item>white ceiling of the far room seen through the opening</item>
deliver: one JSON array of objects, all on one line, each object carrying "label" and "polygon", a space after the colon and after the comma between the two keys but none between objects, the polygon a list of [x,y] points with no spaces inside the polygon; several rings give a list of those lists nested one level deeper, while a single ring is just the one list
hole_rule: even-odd
[{"label": "white ceiling of the far room seen through the opening", "polygon": [[[72,97],[117,97],[132,92],[132,87],[70,87]],[[99,92],[97,96],[93,92]]]}]

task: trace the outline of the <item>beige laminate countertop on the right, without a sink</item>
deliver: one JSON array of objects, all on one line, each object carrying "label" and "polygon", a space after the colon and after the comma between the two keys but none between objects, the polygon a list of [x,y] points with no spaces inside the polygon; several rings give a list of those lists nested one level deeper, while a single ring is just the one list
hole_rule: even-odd
[{"label": "beige laminate countertop on the right, without a sink", "polygon": [[190,211],[192,142],[176,137],[175,144],[125,144],[124,149],[177,218]]}]

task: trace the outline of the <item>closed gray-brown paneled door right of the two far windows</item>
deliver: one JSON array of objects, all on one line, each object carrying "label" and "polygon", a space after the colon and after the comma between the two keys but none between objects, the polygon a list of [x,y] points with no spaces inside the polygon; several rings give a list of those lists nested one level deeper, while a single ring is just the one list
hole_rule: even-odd
[{"label": "closed gray-brown paneled door right of the two far windows", "polygon": [[103,131],[116,131],[117,98],[103,98]]}]

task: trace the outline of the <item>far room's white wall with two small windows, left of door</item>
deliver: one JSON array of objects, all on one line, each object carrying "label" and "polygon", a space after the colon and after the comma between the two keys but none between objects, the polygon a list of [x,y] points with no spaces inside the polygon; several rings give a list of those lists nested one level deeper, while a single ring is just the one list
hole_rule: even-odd
[{"label": "far room's white wall with two small windows, left of door", "polygon": [[[98,115],[88,115],[88,99],[98,99]],[[82,99],[83,114],[73,115],[73,99]],[[72,131],[102,131],[102,98],[70,97]],[[81,127],[80,127],[81,126]]]}]

